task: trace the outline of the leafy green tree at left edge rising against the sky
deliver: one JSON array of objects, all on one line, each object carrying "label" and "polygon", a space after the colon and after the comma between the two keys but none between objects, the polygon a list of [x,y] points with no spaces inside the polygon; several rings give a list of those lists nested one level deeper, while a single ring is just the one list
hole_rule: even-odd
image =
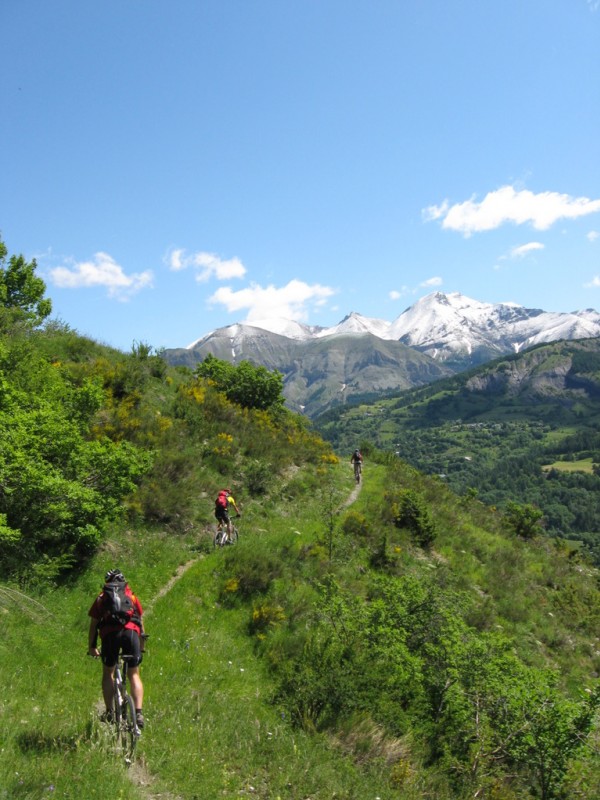
[{"label": "leafy green tree at left edge rising against the sky", "polygon": [[52,301],[44,297],[46,284],[37,277],[35,259],[27,262],[11,256],[0,240],[0,306],[13,309],[33,325],[41,324],[52,311]]}]

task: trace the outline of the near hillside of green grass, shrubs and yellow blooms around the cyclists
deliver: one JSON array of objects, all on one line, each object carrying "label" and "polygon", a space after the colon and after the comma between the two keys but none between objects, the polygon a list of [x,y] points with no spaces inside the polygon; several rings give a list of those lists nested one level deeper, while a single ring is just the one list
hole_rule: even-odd
[{"label": "near hillside of green grass, shrubs and yellow blooms around the cyclists", "polygon": [[[0,798],[594,800],[585,558],[374,448],[356,487],[277,374],[40,310],[0,309]],[[241,533],[215,551],[223,485]],[[150,633],[129,767],[85,656],[114,566]]]}]

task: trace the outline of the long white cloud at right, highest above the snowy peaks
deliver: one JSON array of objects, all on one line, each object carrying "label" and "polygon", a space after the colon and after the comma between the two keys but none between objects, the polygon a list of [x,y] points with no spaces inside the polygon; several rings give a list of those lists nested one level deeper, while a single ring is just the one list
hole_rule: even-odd
[{"label": "long white cloud at right, highest above the snowy peaks", "polygon": [[425,222],[442,220],[442,228],[459,231],[464,236],[499,228],[505,223],[531,224],[536,230],[547,230],[560,219],[577,219],[600,211],[600,200],[570,197],[558,192],[534,194],[502,186],[489,192],[480,203],[474,199],[450,206],[447,200],[439,206],[423,209]]}]

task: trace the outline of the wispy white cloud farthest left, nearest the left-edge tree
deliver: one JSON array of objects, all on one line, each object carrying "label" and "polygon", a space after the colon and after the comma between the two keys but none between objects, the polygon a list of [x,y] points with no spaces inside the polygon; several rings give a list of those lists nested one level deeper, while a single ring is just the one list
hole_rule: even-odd
[{"label": "wispy white cloud farthest left, nearest the left-edge tree", "polygon": [[55,267],[50,278],[61,289],[82,289],[103,286],[108,296],[127,300],[141,289],[152,286],[152,271],[127,275],[108,253],[96,253],[92,261],[80,261],[69,267]]}]

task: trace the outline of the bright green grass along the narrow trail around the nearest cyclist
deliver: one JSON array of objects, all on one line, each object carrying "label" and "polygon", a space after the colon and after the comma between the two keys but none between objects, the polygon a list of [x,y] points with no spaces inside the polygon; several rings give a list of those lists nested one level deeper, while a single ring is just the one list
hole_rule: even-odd
[{"label": "bright green grass along the narrow trail around the nearest cyclist", "polygon": [[[339,479],[352,488],[347,471]],[[250,511],[238,547],[319,527],[317,504],[291,510],[273,514],[268,532]],[[248,609],[217,602],[224,553],[204,553],[209,538],[115,537],[75,585],[41,597],[40,606],[2,589],[0,680],[11,691],[1,703],[0,798],[381,794],[377,774],[360,772],[322,737],[293,730],[270,704],[270,678],[247,635]],[[160,596],[190,559],[197,560]],[[85,656],[87,608],[114,563],[146,600],[151,633],[143,667],[148,726],[129,771],[97,721],[100,665]]]}]

